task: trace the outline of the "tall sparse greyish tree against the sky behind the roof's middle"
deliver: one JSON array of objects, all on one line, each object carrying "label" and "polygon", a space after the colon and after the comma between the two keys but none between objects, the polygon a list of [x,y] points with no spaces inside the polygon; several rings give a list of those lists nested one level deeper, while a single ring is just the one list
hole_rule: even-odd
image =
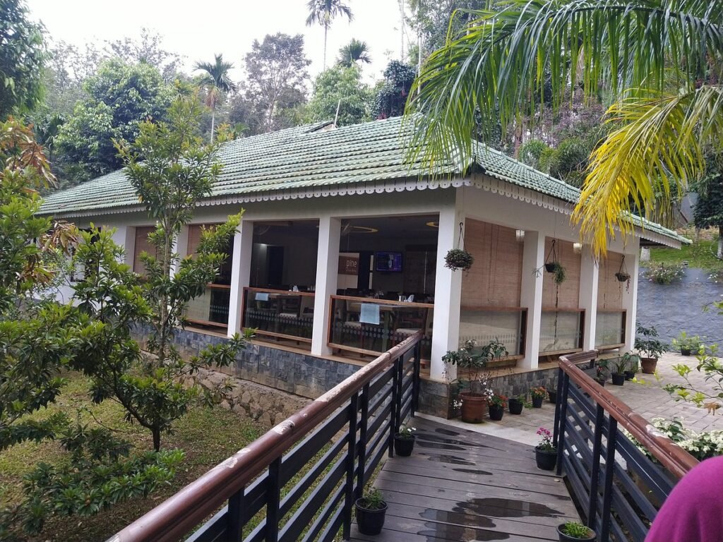
[{"label": "tall sparse greyish tree against the sky behind the roof's middle", "polygon": [[231,124],[243,122],[252,134],[286,128],[283,114],[306,101],[304,87],[311,62],[304,55],[304,37],[278,33],[254,40],[246,55],[244,95],[231,105]]}]

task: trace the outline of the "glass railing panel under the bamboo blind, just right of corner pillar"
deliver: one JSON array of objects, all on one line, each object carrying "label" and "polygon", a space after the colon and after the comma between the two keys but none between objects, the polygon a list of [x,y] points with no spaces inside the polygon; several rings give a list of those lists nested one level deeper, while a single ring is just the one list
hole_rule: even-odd
[{"label": "glass railing panel under the bamboo blind, just right of corner pillar", "polygon": [[498,340],[509,356],[524,353],[526,309],[519,307],[466,307],[460,311],[459,345],[475,340],[484,345]]}]

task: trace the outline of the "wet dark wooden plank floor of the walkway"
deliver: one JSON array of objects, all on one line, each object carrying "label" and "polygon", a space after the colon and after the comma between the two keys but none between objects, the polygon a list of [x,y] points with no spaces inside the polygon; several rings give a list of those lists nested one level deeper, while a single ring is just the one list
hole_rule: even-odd
[{"label": "wet dark wooden plank floor of the walkway", "polygon": [[534,448],[414,418],[411,457],[388,459],[375,486],[388,502],[379,536],[352,541],[557,541],[579,520],[565,483],[538,470]]}]

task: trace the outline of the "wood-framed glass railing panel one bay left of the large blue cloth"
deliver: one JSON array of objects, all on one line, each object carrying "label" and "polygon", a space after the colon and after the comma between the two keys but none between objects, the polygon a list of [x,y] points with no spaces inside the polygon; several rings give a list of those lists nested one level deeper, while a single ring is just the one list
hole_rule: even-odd
[{"label": "wood-framed glass railing panel one bay left of the large blue cloth", "polygon": [[311,343],[314,328],[314,293],[244,288],[242,326],[256,335]]}]

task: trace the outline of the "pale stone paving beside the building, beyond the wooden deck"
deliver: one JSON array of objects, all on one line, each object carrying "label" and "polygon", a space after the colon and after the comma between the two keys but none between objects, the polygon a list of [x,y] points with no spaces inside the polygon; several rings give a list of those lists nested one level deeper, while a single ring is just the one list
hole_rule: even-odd
[{"label": "pale stone paving beside the building, beyond the wooden deck", "polygon": [[[641,414],[643,418],[668,418],[675,416],[683,418],[683,425],[694,431],[711,431],[711,429],[723,429],[723,409],[717,415],[708,413],[705,408],[698,408],[692,403],[676,401],[671,397],[663,386],[668,383],[683,383],[672,366],[676,364],[688,364],[693,369],[690,374],[690,381],[696,384],[699,389],[712,389],[711,384],[706,383],[703,375],[695,370],[696,358],[692,356],[681,356],[677,353],[667,353],[658,361],[657,378],[652,374],[638,373],[640,382],[625,382],[624,386],[613,386],[610,382],[605,384],[605,389],[620,397],[630,408]],[[432,418],[432,416],[424,416]],[[432,418],[433,419],[433,418]],[[463,423],[459,419],[449,420],[446,423],[477,431],[479,433],[499,436],[503,439],[522,442],[523,444],[537,444],[539,437],[537,429],[546,427],[552,430],[552,423],[555,420],[555,405],[543,403],[542,408],[525,408],[521,416],[513,416],[505,411],[502,421],[485,421],[484,423]]]}]

